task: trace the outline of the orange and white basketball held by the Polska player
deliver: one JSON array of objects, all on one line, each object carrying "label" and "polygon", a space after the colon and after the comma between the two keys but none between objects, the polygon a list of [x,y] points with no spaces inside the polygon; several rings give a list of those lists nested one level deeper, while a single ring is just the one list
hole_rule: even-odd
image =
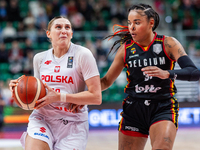
[{"label": "orange and white basketball held by the Polska player", "polygon": [[33,110],[36,101],[46,95],[43,82],[33,76],[21,78],[16,87],[14,87],[14,101],[25,110]]}]

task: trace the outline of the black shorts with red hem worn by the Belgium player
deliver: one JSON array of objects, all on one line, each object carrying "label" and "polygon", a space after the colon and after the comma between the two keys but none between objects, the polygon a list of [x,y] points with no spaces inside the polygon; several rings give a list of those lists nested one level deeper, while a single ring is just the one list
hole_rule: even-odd
[{"label": "black shorts with red hem worn by the Belgium player", "polygon": [[174,97],[155,101],[127,96],[118,129],[125,135],[148,137],[150,126],[163,120],[172,121],[178,129],[178,111],[179,104]]}]

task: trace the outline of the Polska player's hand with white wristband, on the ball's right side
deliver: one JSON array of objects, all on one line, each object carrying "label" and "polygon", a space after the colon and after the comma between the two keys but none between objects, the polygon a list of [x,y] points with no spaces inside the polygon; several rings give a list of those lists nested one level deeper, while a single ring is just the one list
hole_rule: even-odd
[{"label": "Polska player's hand with white wristband, on the ball's right side", "polygon": [[48,90],[47,95],[36,101],[37,104],[36,104],[35,109],[40,109],[41,107],[44,107],[48,104],[60,101],[60,95],[58,92],[54,91],[52,88],[50,88],[46,84],[44,84],[44,86]]}]

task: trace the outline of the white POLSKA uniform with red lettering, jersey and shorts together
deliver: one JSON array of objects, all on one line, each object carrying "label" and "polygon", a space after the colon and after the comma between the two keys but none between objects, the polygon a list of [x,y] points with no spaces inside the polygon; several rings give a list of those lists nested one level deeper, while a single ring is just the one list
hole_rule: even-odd
[{"label": "white POLSKA uniform with red lettering, jersey and shorts together", "polygon": [[[60,93],[75,94],[86,89],[85,81],[99,75],[89,49],[71,43],[62,58],[55,58],[53,49],[34,57],[34,76]],[[43,140],[51,150],[84,150],[88,137],[88,109],[68,111],[68,103],[56,102],[34,110],[29,118],[29,136]],[[26,132],[21,138],[25,143]]]}]

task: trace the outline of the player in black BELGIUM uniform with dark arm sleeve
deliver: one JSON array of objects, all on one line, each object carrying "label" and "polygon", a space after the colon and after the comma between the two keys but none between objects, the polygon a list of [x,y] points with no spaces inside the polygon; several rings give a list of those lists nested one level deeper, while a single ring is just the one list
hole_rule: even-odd
[{"label": "player in black BELGIUM uniform with dark arm sleeve", "polygon": [[[199,80],[199,70],[173,37],[158,35],[154,30],[159,15],[146,4],[128,10],[128,26],[120,26],[109,37],[119,36],[110,52],[115,59],[101,78],[106,90],[126,68],[127,97],[123,101],[119,123],[119,150],[143,150],[148,138],[153,150],[171,150],[178,129],[179,105],[174,97],[174,80]],[[174,70],[175,62],[181,69]]]}]

